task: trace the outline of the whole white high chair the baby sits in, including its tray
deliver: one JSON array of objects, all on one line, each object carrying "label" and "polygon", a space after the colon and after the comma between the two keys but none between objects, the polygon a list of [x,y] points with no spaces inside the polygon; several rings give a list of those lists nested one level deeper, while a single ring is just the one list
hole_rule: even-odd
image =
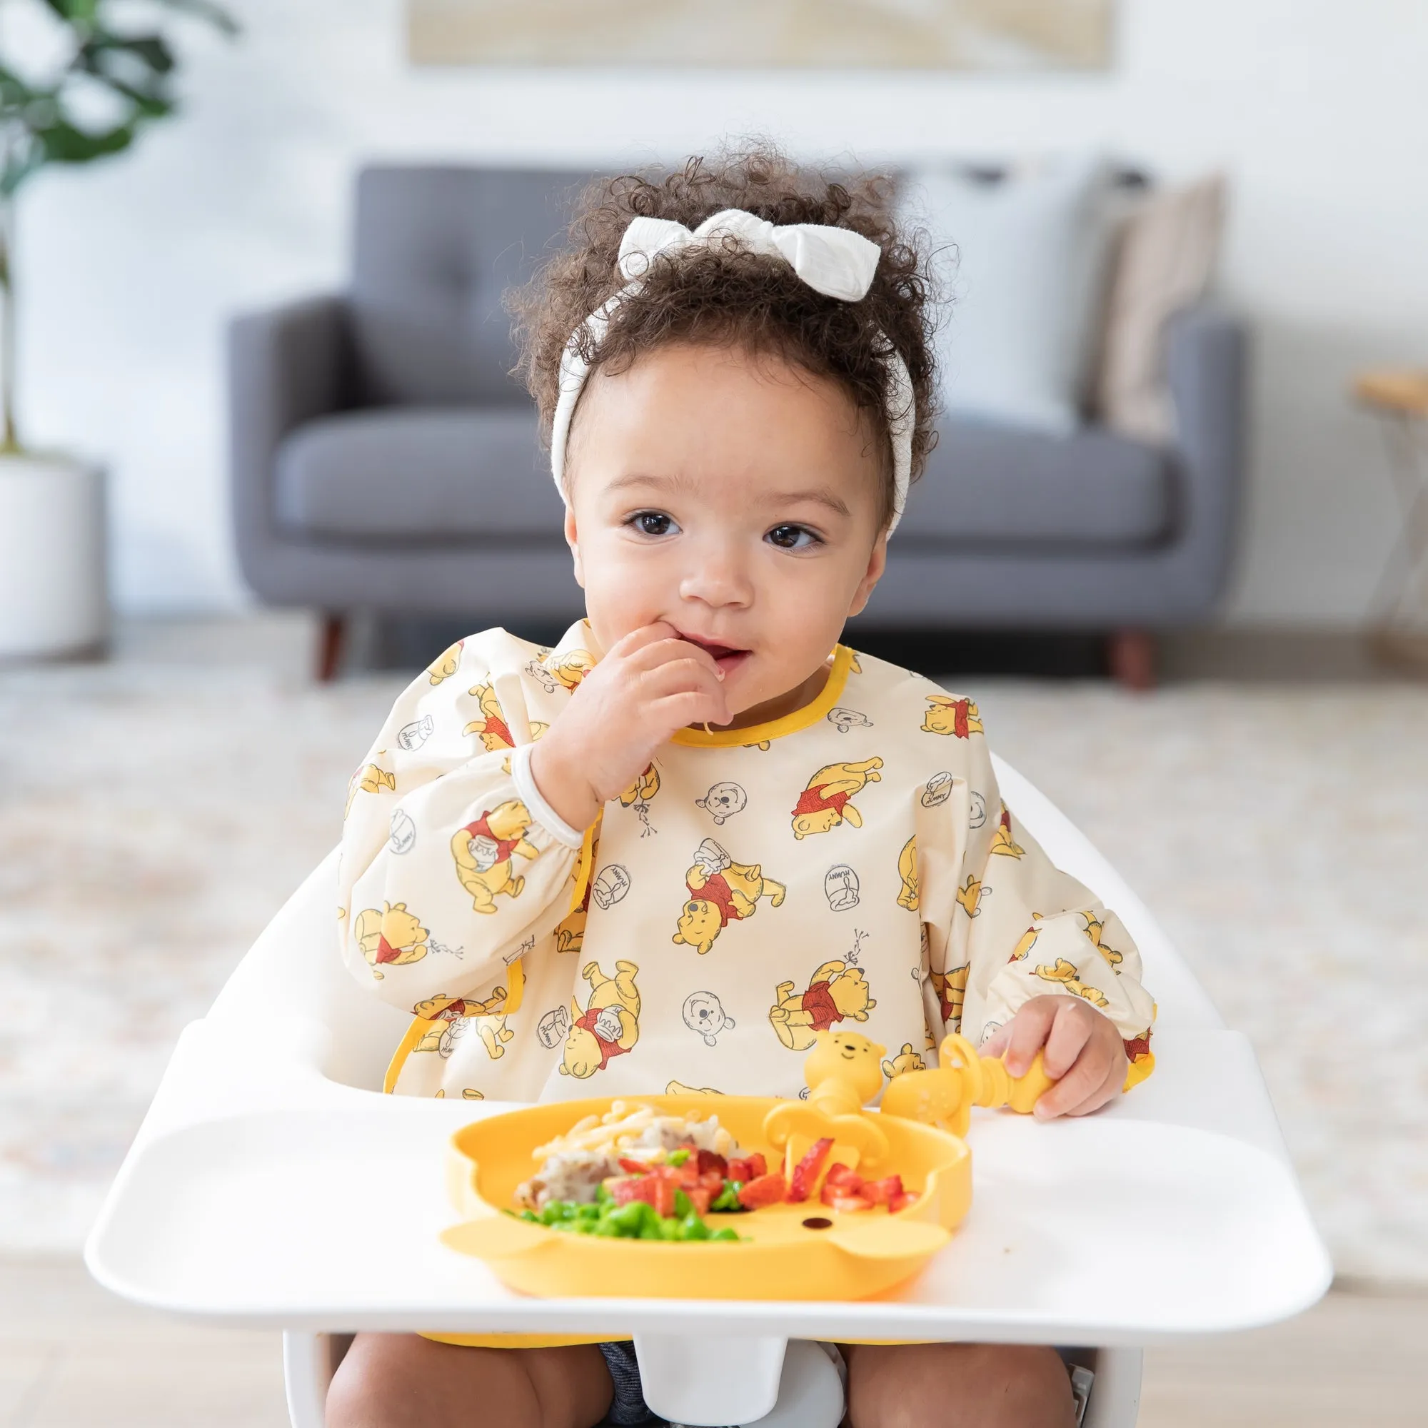
[{"label": "whole white high chair the baby sits in, including its tray", "polygon": [[894,1298],[528,1299],[441,1247],[446,1141],[507,1105],[374,1094],[410,1018],[336,955],[336,854],[180,1037],[90,1232],[90,1272],[153,1308],[281,1328],[293,1428],[321,1428],[356,1329],[624,1331],[655,1412],[761,1428],[843,1415],[831,1361],[798,1341],[1085,1344],[1084,1428],[1134,1428],[1141,1345],[1297,1314],[1329,1262],[1248,1042],[1090,841],[1001,761],[997,775],[1141,948],[1157,1072],[1081,1121],[978,1112],[971,1215]]}]

